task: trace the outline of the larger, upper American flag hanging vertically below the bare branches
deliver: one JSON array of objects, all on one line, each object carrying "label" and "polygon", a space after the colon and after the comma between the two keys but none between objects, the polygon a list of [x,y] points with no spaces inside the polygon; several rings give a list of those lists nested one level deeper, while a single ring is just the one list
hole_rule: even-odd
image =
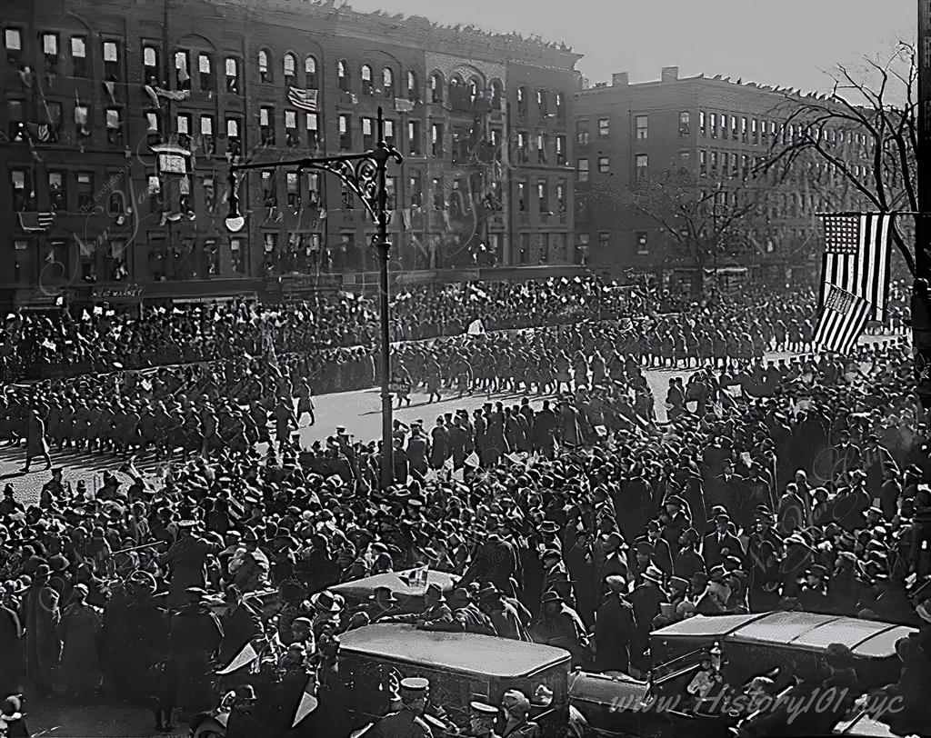
[{"label": "larger, upper American flag hanging vertically below the bare branches", "polygon": [[825,251],[821,271],[821,307],[831,286],[870,303],[870,320],[885,319],[889,291],[891,213],[824,217]]}]

